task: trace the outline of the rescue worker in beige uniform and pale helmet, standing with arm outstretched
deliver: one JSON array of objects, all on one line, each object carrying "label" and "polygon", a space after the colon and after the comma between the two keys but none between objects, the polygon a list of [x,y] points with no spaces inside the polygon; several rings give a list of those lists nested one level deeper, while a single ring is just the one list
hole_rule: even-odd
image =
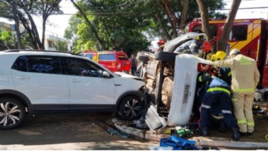
[{"label": "rescue worker in beige uniform and pale helmet, standing with arm outstretched", "polygon": [[254,91],[260,80],[256,61],[243,56],[238,49],[230,51],[230,59],[211,62],[216,67],[230,67],[232,71],[232,104],[241,135],[253,135],[252,105]]}]

